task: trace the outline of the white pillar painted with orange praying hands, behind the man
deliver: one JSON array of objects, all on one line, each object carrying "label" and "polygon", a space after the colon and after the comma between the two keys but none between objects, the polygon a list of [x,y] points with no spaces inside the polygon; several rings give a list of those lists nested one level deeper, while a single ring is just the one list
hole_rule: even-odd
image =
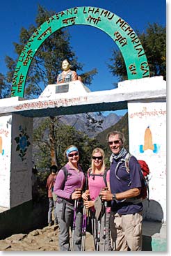
[{"label": "white pillar painted with orange praying hands, behind the man", "polygon": [[166,220],[166,101],[138,100],[128,103],[129,151],[149,165],[149,199],[144,217]]}]

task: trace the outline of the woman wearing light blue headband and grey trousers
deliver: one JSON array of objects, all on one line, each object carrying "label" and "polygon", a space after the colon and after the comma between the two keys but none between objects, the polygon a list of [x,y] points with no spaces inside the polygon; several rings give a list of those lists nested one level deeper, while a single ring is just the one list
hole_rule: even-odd
[{"label": "woman wearing light blue headband and grey trousers", "polygon": [[[79,165],[79,150],[76,146],[68,146],[64,156],[67,158],[67,164],[59,170],[58,179],[56,179],[54,186],[54,193],[57,195],[56,212],[59,224],[59,246],[60,250],[63,251],[79,251],[81,250],[81,226],[83,219],[83,209],[80,200],[85,176]],[[74,237],[72,236],[74,248],[72,249],[72,246],[70,246],[70,227],[71,229],[73,227],[74,213],[76,218]]]}]

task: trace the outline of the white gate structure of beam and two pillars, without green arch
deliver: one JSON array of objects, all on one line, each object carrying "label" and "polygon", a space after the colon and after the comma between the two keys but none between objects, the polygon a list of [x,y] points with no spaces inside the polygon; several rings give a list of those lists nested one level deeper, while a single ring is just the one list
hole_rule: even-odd
[{"label": "white gate structure of beam and two pillars, without green arch", "polygon": [[[76,91],[79,90],[75,89],[74,92]],[[23,229],[28,225],[31,228],[33,223],[33,220],[24,222],[25,216],[32,216],[33,117],[74,114],[85,110],[91,112],[128,107],[129,150],[138,159],[147,161],[152,174],[149,183],[152,206],[146,205],[145,217],[157,221],[162,218],[165,221],[166,194],[163,188],[166,187],[166,82],[162,77],[127,80],[118,84],[117,89],[82,93],[80,96],[75,96],[75,93],[68,96],[67,93],[62,94],[58,98],[53,94],[49,98],[34,100],[19,97],[0,100],[0,214],[1,211],[7,212],[1,218],[3,225],[0,235],[6,232],[13,234],[11,232],[16,230],[15,227],[19,228],[18,232],[24,232]],[[152,143],[158,144],[157,152],[145,150],[143,146],[147,127],[152,131]],[[139,150],[140,146],[144,152]],[[160,206],[160,211],[156,211],[153,203]],[[13,219],[15,223],[11,223]]]}]

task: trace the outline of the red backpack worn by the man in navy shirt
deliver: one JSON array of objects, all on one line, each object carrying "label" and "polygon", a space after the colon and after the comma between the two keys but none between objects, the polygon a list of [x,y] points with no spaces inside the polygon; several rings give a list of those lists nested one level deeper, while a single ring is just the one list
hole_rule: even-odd
[{"label": "red backpack worn by the man in navy shirt", "polygon": [[[127,172],[129,173],[129,160],[131,158],[131,154],[127,153],[127,156],[124,158],[125,160],[125,167]],[[140,165],[140,169],[141,169],[141,178],[142,178],[142,188],[140,191],[140,195],[138,197],[142,198],[142,200],[144,199],[148,199],[149,200],[149,167],[147,165],[147,163],[144,160],[138,160],[138,163]]]}]

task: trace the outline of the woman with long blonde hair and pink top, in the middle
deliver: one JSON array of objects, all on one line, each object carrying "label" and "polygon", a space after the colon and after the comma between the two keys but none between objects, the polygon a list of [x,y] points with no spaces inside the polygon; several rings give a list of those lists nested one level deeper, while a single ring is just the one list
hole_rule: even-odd
[{"label": "woman with long blonde hair and pink top, in the middle", "polygon": [[[92,233],[94,236],[95,248],[97,249],[98,240],[100,251],[111,250],[111,234],[109,229],[111,207],[106,207],[106,214],[103,214],[103,216],[100,217],[100,221],[98,222],[95,211],[95,200],[99,196],[101,189],[106,189],[106,187],[110,189],[109,176],[110,170],[106,170],[103,149],[94,149],[92,151],[92,165],[91,168],[88,170],[88,190],[83,193],[82,197],[84,199],[84,206],[90,209],[90,215],[92,218]],[[106,229],[104,226],[106,226]],[[99,237],[97,237],[98,228],[100,228]],[[105,239],[104,235],[106,235]]]}]

